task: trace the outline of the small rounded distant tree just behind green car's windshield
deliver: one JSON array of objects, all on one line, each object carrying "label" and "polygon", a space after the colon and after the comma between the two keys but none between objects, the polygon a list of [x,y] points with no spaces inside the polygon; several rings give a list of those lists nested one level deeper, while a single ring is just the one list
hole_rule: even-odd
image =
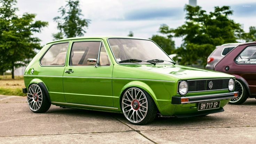
[{"label": "small rounded distant tree just behind green car's windshield", "polygon": [[174,41],[170,38],[166,38],[160,35],[153,35],[152,38],[149,38],[153,40],[159,47],[163,49],[168,55],[173,54],[175,50],[175,44]]}]

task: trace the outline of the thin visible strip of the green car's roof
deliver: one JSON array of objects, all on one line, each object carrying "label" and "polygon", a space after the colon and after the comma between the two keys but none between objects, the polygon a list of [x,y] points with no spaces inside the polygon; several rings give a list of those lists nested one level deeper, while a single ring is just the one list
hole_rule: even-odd
[{"label": "thin visible strip of the green car's roof", "polygon": [[79,40],[79,39],[108,39],[108,38],[129,38],[129,39],[142,39],[142,40],[150,40],[150,39],[144,39],[144,38],[137,38],[137,37],[125,37],[125,36],[87,36],[87,37],[73,37],[73,38],[65,38],[65,39],[59,39],[55,41],[48,42],[59,42],[59,41],[66,41],[66,40]]}]

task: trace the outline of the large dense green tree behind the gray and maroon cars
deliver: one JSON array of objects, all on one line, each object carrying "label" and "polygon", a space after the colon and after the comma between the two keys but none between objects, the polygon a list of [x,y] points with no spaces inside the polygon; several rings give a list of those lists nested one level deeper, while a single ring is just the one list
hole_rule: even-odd
[{"label": "large dense green tree behind the gray and maroon cars", "polygon": [[233,14],[229,6],[214,7],[210,13],[200,6],[185,5],[184,10],[186,21],[183,25],[176,29],[170,29],[168,25],[159,28],[169,38],[182,37],[183,43],[177,49],[177,55],[182,57],[180,64],[191,65],[201,60],[206,65],[206,59],[215,46],[242,38],[241,25],[229,18]]}]

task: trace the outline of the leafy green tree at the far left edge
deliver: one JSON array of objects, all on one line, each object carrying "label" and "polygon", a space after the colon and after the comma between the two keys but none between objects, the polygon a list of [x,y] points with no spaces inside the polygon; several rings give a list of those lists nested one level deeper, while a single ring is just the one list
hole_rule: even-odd
[{"label": "leafy green tree at the far left edge", "polygon": [[48,22],[35,21],[35,14],[16,15],[16,0],[0,0],[0,71],[25,66],[35,56],[35,50],[41,49],[40,39],[33,37],[40,33]]}]

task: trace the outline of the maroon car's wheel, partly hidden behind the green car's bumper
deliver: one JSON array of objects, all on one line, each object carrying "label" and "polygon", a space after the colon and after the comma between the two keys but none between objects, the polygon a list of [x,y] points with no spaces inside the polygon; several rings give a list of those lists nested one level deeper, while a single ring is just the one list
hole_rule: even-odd
[{"label": "maroon car's wheel, partly hidden behind the green car's bumper", "polygon": [[242,104],[248,98],[248,91],[245,87],[245,84],[243,84],[243,82],[235,80],[235,90],[234,91],[238,91],[239,95],[237,98],[232,98],[229,101],[230,104],[235,104],[235,105]]}]

